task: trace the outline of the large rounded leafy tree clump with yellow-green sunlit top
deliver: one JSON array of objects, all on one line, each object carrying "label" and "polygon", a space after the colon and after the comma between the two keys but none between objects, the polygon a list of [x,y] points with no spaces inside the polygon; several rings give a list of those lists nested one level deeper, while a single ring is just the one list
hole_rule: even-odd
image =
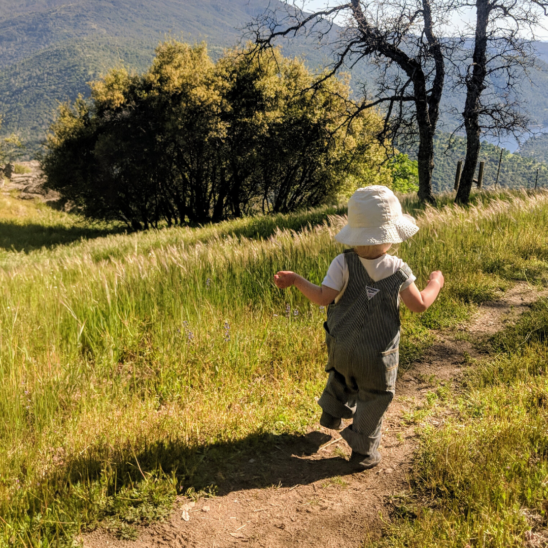
[{"label": "large rounded leafy tree clump with yellow-green sunlit top", "polygon": [[[134,229],[290,212],[390,181],[368,111],[349,124],[350,90],[311,89],[300,60],[161,44],[141,76],[113,70],[92,101],[62,105],[42,167],[84,214]],[[341,129],[345,125],[345,129]]]}]

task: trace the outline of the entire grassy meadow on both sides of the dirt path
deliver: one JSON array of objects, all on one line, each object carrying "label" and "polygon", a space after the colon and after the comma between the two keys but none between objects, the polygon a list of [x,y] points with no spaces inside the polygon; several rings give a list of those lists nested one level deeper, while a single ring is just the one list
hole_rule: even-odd
[{"label": "entire grassy meadow on both sides of the dirt path", "polygon": [[[277,290],[272,275],[321,283],[342,250],[333,235],[344,207],[124,233],[37,204],[9,213],[20,206],[3,199],[0,546],[72,546],[101,521],[132,538],[133,524],[167,515],[177,494],[214,495],[231,455],[317,425],[326,312]],[[402,310],[402,370],[432,330],[516,280],[548,281],[547,192],[404,207],[421,230],[396,252],[419,286],[441,269],[446,287],[423,315]],[[548,498],[538,403],[547,324],[540,302],[484,342],[496,357],[471,367],[465,393],[430,398],[432,412],[452,406],[465,428],[423,432],[414,489],[435,503],[409,501],[385,545],[523,545],[522,505],[543,512]],[[487,458],[509,443],[516,452]]]}]

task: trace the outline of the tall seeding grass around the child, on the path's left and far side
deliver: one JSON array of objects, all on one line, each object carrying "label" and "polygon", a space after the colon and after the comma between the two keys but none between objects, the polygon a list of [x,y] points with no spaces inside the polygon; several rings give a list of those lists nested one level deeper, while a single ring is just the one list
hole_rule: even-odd
[{"label": "tall seeding grass around the child, on the path's left and far side", "polygon": [[[0,545],[70,545],[100,521],[129,538],[177,493],[213,494],[232,456],[316,424],[325,315],[272,275],[321,282],[342,249],[344,220],[328,213],[0,255]],[[44,225],[82,222],[52,215]],[[402,368],[430,329],[548,272],[546,193],[428,208],[418,222],[398,253],[419,286],[438,268],[447,282],[427,313],[402,312]]]}]

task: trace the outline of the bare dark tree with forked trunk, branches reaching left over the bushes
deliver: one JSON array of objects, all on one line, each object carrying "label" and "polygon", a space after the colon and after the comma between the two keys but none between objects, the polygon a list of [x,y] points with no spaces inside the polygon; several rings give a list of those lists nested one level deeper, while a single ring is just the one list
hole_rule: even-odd
[{"label": "bare dark tree with forked trunk, branches reaching left over the bushes", "polygon": [[[281,38],[313,36],[332,46],[334,61],[321,80],[367,60],[376,67],[373,91],[363,86],[363,99],[348,121],[364,109],[383,112],[381,142],[418,136],[419,198],[435,202],[432,194],[433,137],[439,118],[445,63],[450,41],[438,31],[447,24],[450,8],[441,0],[333,0],[330,7],[305,13],[295,0],[282,11],[269,9],[252,26],[257,48],[270,48]],[[439,3],[436,3],[439,2]],[[333,38],[334,21],[339,24]]]}]

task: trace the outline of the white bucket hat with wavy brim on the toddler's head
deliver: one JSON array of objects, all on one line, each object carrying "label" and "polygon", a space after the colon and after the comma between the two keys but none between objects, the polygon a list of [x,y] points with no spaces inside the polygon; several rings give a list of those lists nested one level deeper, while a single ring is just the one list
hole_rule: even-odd
[{"label": "white bucket hat with wavy brim on the toddler's head", "polygon": [[358,189],[348,201],[348,222],[336,241],[347,246],[399,243],[412,237],[419,227],[386,186]]}]

